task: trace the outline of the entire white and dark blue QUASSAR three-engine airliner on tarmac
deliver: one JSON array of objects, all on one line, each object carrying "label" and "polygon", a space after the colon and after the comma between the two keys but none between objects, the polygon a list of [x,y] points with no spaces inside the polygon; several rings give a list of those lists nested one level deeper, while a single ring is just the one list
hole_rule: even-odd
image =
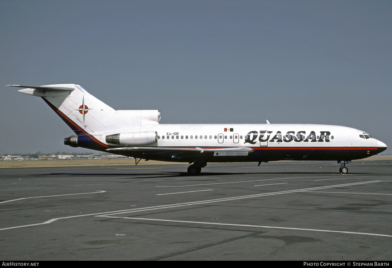
[{"label": "entire white and dark blue QUASSAR three-engine airliner on tarmac", "polygon": [[[114,110],[74,84],[20,86],[42,97],[76,133],[64,144],[145,160],[188,162],[198,174],[207,162],[351,160],[387,149],[368,133],[315,124],[159,124],[159,110]],[[140,161],[140,160],[139,160]],[[136,162],[137,164],[138,162]]]}]

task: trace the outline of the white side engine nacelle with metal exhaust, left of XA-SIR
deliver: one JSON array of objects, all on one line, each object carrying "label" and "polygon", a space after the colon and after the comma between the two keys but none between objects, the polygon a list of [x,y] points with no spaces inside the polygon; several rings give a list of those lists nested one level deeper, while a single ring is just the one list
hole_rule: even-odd
[{"label": "white side engine nacelle with metal exhaust, left of XA-SIR", "polygon": [[142,146],[156,143],[157,135],[156,131],[127,132],[107,135],[105,140],[111,144]]}]

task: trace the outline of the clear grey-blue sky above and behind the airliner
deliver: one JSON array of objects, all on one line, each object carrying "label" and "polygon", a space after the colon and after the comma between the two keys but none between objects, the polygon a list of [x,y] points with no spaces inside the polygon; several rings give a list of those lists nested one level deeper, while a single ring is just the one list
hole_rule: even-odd
[{"label": "clear grey-blue sky above and behind the airliner", "polygon": [[[0,0],[0,85],[75,83],[163,124],[332,124],[392,146],[390,14],[391,1]],[[42,99],[9,90],[4,153],[85,151]]]}]

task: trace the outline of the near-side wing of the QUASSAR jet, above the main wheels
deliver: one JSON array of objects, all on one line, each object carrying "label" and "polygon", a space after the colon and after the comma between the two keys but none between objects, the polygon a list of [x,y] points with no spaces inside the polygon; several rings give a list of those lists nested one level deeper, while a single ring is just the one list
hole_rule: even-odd
[{"label": "near-side wing of the QUASSAR jet, above the main wheels", "polygon": [[143,155],[172,155],[172,158],[185,158],[187,156],[246,156],[253,153],[250,147],[227,147],[227,148],[181,148],[181,147],[120,147],[106,149],[106,151],[118,152],[122,151],[142,152]]}]

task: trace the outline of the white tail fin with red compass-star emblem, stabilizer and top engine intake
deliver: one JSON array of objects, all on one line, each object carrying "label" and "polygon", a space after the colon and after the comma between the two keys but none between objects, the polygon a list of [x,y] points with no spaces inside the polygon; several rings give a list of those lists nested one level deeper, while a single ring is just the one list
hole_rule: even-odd
[{"label": "white tail fin with red compass-star emblem, stabilizer and top engine intake", "polygon": [[114,110],[80,85],[9,86],[24,88],[18,91],[42,97],[77,135],[113,134],[160,121],[158,110]]}]

